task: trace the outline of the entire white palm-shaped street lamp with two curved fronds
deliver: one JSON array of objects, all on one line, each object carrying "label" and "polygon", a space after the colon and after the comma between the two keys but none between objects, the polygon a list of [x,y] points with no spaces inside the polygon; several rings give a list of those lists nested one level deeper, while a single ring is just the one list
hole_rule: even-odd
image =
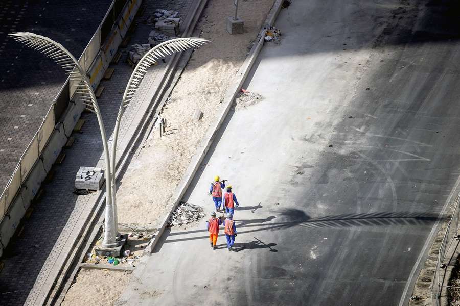
[{"label": "entire white palm-shaped street lamp with two curved fronds", "polygon": [[70,75],[70,81],[77,84],[76,95],[82,101],[86,110],[96,114],[99,130],[102,137],[102,145],[104,148],[105,167],[106,167],[106,190],[107,198],[105,202],[105,222],[104,222],[104,239],[101,243],[103,248],[109,249],[118,247],[118,217],[116,206],[116,150],[117,138],[120,127],[120,121],[123,116],[124,110],[131,102],[134,94],[143,80],[147,69],[156,63],[159,58],[166,57],[175,52],[182,52],[184,50],[201,46],[208,42],[208,40],[200,38],[177,38],[172,39],[149,50],[149,52],[137,63],[131,78],[129,79],[128,86],[126,87],[123,95],[123,100],[117,115],[115,124],[115,131],[113,134],[112,143],[112,156],[109,156],[107,136],[105,133],[104,122],[102,120],[99,105],[97,103],[96,95],[91,83],[86,75],[86,71],[80,66],[78,60],[61,44],[56,41],[41,35],[30,32],[16,32],[10,34],[16,41],[26,44],[27,47],[33,48],[43,55],[53,59],[57,64]]}]

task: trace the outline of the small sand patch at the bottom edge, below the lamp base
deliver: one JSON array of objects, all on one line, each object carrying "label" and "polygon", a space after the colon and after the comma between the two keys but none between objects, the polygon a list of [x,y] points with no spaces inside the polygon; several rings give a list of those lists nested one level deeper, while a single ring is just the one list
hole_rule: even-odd
[{"label": "small sand patch at the bottom edge, below the lamp base", "polygon": [[121,271],[82,269],[61,305],[111,306],[130,277],[131,274]]}]

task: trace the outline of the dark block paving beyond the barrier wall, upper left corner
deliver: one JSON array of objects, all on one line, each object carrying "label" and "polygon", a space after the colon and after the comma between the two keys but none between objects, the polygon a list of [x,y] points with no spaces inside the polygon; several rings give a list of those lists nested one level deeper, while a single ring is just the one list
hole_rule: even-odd
[{"label": "dark block paving beyond the barrier wall, upper left corner", "polygon": [[8,34],[28,31],[49,36],[79,57],[110,3],[111,0],[0,1],[2,191],[66,79],[53,61],[25,48]]}]

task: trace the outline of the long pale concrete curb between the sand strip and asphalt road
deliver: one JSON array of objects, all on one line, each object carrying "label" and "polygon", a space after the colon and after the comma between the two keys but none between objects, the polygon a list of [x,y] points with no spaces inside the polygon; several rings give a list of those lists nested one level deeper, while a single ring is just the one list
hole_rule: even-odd
[{"label": "long pale concrete curb between the sand strip and asphalt road", "polygon": [[182,199],[183,195],[187,191],[188,187],[190,186],[190,183],[192,183],[192,180],[198,171],[199,166],[201,165],[204,157],[208,153],[209,148],[211,147],[214,139],[216,138],[217,133],[219,132],[219,129],[225,120],[225,117],[228,114],[228,111],[231,109],[233,102],[240,92],[241,86],[243,83],[246,81],[246,77],[249,74],[249,71],[252,68],[252,65],[256,62],[257,56],[260,53],[260,50],[262,49],[262,46],[264,44],[264,33],[265,29],[268,27],[271,27],[273,25],[274,21],[278,17],[278,14],[281,11],[281,5],[284,0],[275,0],[273,3],[273,6],[271,7],[267,18],[265,19],[264,25],[261,29],[261,32],[258,35],[258,40],[252,45],[252,48],[249,51],[249,54],[246,58],[246,60],[243,62],[241,65],[241,68],[238,72],[237,77],[235,78],[234,82],[230,87],[227,89],[227,92],[225,93],[225,97],[222,101],[222,105],[224,106],[224,109],[220,116],[218,117],[219,119],[215,123],[212,129],[206,133],[205,138],[200,142],[197,148],[197,154],[192,158],[189,167],[187,168],[186,174],[183,177],[183,179],[180,181],[179,185],[177,186],[173,198],[174,200],[174,205],[171,207],[171,210],[166,216],[163,218],[162,222],[162,227],[158,228],[158,233],[150,240],[150,243],[145,249],[146,253],[152,253],[156,244],[162,237],[163,233],[165,232],[166,226],[168,224],[168,220],[171,216],[171,214],[174,212],[176,207],[179,205],[180,200]]}]

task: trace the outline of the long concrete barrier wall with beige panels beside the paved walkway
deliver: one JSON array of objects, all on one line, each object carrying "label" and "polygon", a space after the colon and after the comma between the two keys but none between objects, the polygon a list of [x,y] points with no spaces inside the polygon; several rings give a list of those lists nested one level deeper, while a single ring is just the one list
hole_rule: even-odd
[{"label": "long concrete barrier wall with beige panels beside the paved walkway", "polygon": [[[99,25],[83,51],[79,63],[89,76],[94,89],[99,85],[141,3],[142,0],[128,0],[107,39],[101,40]],[[114,2],[109,11],[113,6]],[[110,17],[113,19],[113,15],[106,15],[106,18]],[[101,24],[103,22],[105,20]],[[83,103],[75,96],[74,84],[69,82],[67,79],[62,86],[7,186],[0,194],[0,257],[84,110]],[[68,100],[72,102],[67,105]],[[66,107],[66,110],[61,115],[63,107]]]}]

